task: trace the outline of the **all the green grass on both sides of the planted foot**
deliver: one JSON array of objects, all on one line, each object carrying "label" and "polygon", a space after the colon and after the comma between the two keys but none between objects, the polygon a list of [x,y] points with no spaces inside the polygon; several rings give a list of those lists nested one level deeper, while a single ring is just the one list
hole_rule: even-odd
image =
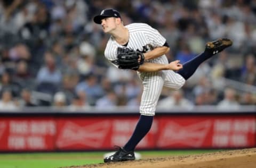
[{"label": "all the green grass on both sides of the planted foot", "polygon": [[[163,150],[139,151],[142,158],[165,157],[173,155],[190,155],[215,152],[217,150]],[[73,165],[103,163],[106,152],[77,152],[77,153],[26,153],[0,154],[1,168],[55,168]]]}]

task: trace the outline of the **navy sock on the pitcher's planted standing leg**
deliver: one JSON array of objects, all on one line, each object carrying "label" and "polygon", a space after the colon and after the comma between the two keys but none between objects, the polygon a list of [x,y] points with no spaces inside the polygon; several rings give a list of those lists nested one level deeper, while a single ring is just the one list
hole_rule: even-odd
[{"label": "navy sock on the pitcher's planted standing leg", "polygon": [[123,147],[126,151],[133,151],[139,144],[140,140],[146,136],[153,123],[153,117],[154,116],[140,115],[140,119],[136,125],[132,137]]}]

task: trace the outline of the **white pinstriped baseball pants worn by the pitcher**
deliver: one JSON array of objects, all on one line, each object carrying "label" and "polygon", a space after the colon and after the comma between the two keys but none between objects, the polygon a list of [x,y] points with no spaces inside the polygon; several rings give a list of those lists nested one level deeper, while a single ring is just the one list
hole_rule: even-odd
[{"label": "white pinstriped baseball pants worn by the pitcher", "polygon": [[161,95],[163,86],[173,90],[180,89],[185,84],[185,79],[172,70],[158,72],[142,72],[139,74],[143,84],[140,113],[154,116],[156,105]]}]

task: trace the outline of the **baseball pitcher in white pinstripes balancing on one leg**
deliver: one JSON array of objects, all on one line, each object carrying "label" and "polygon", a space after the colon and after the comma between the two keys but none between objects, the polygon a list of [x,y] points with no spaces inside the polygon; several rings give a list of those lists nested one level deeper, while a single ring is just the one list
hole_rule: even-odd
[{"label": "baseball pitcher in white pinstripes balancing on one leg", "polygon": [[141,115],[133,135],[104,162],[133,160],[135,147],[151,128],[163,86],[180,89],[202,62],[231,46],[232,41],[221,38],[209,42],[203,53],[183,65],[178,60],[168,63],[165,54],[170,48],[166,39],[148,24],[132,23],[124,26],[121,15],[114,9],[103,10],[94,16],[93,21],[101,24],[103,31],[111,35],[105,49],[107,60],[119,69],[137,71],[143,83]]}]

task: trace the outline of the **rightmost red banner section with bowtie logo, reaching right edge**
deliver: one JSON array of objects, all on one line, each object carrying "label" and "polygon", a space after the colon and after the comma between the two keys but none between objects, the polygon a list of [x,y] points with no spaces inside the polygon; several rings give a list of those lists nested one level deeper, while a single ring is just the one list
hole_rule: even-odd
[{"label": "rightmost red banner section with bowtie logo, reaching right edge", "polygon": [[255,117],[172,116],[158,118],[158,148],[255,146]]}]

